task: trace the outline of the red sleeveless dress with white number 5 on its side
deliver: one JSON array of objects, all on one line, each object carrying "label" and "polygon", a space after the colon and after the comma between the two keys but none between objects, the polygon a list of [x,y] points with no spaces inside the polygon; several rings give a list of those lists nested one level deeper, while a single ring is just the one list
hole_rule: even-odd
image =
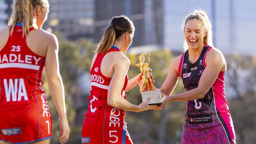
[{"label": "red sleeveless dress with white number 5 on its side", "polygon": [[[103,57],[109,52],[121,52],[112,46],[104,54],[97,54],[91,68],[91,95],[89,96],[88,111],[85,114],[82,128],[82,144],[132,144],[124,122],[125,111],[108,105],[108,89],[111,78],[105,77],[100,71]],[[128,76],[121,96],[126,99]]]}]

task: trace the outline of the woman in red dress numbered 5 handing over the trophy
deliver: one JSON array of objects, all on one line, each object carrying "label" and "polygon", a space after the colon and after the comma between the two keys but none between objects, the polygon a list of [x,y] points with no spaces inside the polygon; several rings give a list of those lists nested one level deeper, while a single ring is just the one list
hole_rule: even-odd
[{"label": "woman in red dress numbered 5 handing over the trophy", "polygon": [[126,16],[113,17],[97,46],[91,64],[91,95],[82,128],[83,144],[132,144],[124,122],[125,111],[145,111],[154,105],[134,105],[124,92],[140,83],[129,79],[130,60],[123,53],[132,43],[134,24]]}]

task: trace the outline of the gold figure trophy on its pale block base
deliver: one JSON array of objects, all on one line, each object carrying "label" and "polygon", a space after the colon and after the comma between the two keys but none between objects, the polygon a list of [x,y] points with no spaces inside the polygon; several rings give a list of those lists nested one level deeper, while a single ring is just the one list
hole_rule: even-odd
[{"label": "gold figure trophy on its pale block base", "polygon": [[[152,79],[150,78],[150,71],[149,71],[150,54],[148,54],[148,63],[145,63],[145,56],[146,56],[146,53],[139,55],[139,63],[135,65],[139,67],[139,69],[142,72],[142,76],[141,76],[142,84],[139,90],[140,95],[138,97],[138,104],[141,102],[145,102],[147,98],[150,97],[151,100],[148,102],[148,105],[161,105],[163,103],[161,92],[160,90],[155,89],[152,83]],[[145,89],[146,86],[147,86],[147,89]],[[151,86],[151,89],[150,89],[150,86]]]}]

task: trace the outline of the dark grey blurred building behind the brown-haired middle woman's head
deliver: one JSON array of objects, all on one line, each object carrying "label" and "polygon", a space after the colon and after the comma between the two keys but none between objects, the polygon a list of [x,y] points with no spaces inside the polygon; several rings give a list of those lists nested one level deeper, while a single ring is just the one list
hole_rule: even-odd
[{"label": "dark grey blurred building behind the brown-haired middle woman's head", "polygon": [[109,19],[115,15],[127,15],[133,20],[134,46],[163,46],[163,0],[95,0],[96,42],[104,33]]}]

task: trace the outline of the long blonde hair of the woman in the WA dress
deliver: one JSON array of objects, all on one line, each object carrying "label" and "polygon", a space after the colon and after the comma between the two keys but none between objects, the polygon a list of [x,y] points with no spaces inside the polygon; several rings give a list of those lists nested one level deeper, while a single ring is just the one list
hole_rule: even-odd
[{"label": "long blonde hair of the woman in the WA dress", "polygon": [[38,6],[43,7],[43,11],[46,10],[48,6],[47,0],[14,0],[13,2],[13,13],[9,20],[9,29],[11,35],[14,31],[16,24],[22,22],[22,37],[27,35],[29,28],[36,24],[36,19],[34,18],[33,11]]}]

